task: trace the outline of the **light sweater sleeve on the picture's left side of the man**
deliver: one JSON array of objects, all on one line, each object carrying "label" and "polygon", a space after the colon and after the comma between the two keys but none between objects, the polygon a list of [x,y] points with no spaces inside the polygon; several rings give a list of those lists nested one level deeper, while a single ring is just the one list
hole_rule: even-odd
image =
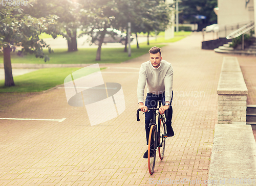
[{"label": "light sweater sleeve on the picture's left side of the man", "polygon": [[146,70],[141,65],[140,72],[139,72],[138,87],[137,87],[138,102],[143,102],[144,100],[145,86],[146,86]]}]

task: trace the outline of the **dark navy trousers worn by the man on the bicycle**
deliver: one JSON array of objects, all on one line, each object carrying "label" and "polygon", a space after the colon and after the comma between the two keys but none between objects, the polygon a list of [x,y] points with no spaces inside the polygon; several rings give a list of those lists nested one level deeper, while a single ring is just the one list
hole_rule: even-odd
[{"label": "dark navy trousers worn by the man on the bicycle", "polygon": [[[145,105],[148,108],[157,108],[159,100],[162,101],[163,105],[165,104],[165,93],[158,94],[158,95],[147,93]],[[170,129],[170,127],[172,126],[172,117],[173,117],[172,101],[173,101],[173,96],[172,96],[172,99],[170,100],[170,107],[168,109],[169,122],[168,123],[166,122],[167,130]],[[146,129],[146,144],[147,145],[148,145],[148,137],[150,136],[150,121],[151,121],[152,117],[153,117],[152,112],[149,111],[149,112],[145,113],[145,129]],[[156,119],[156,122],[157,122],[157,119]]]}]

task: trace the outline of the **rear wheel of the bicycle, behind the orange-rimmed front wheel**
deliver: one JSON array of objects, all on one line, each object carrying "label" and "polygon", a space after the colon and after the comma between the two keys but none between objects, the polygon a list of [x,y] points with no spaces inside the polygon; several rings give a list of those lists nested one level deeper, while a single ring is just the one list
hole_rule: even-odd
[{"label": "rear wheel of the bicycle, behind the orange-rimmed front wheel", "polygon": [[163,155],[164,155],[164,149],[165,149],[165,137],[164,134],[166,134],[166,125],[164,122],[164,119],[162,117],[159,116],[159,120],[158,120],[158,154],[159,154],[159,158],[162,160],[163,159]]}]

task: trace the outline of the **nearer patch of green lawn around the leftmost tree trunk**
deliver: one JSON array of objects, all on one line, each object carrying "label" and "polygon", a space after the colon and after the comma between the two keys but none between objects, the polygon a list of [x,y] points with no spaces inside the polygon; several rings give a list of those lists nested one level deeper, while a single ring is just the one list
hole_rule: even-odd
[{"label": "nearer patch of green lawn around the leftmost tree trunk", "polygon": [[[72,72],[81,68],[41,68],[23,75],[14,76],[14,87],[5,87],[0,80],[0,92],[40,92],[64,83],[64,79]],[[96,72],[95,68],[86,68],[88,75]],[[103,69],[103,68],[101,68]]]}]

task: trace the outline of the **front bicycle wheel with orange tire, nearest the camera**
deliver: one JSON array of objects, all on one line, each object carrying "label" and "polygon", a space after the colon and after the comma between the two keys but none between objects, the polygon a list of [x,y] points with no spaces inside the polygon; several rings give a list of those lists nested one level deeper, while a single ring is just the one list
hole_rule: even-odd
[{"label": "front bicycle wheel with orange tire, nearest the camera", "polygon": [[157,149],[157,132],[155,125],[150,128],[150,136],[148,138],[148,150],[147,150],[147,164],[150,174],[154,173],[156,163],[156,149]]}]

